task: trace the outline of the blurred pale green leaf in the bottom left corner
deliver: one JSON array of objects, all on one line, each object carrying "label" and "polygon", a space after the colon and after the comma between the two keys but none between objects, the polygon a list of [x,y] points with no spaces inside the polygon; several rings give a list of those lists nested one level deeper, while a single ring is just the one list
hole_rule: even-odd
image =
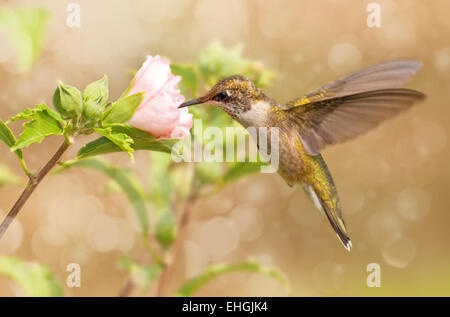
[{"label": "blurred pale green leaf in the bottom left corner", "polygon": [[61,284],[46,267],[27,263],[16,257],[0,257],[0,274],[13,279],[28,296],[63,296]]}]

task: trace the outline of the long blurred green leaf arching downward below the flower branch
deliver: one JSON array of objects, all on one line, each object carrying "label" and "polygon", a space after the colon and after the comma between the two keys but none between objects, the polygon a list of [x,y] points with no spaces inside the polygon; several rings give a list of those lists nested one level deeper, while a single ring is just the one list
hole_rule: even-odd
[{"label": "long blurred green leaf arching downward below the flower branch", "polygon": [[75,159],[73,161],[62,164],[63,169],[75,166],[89,167],[99,172],[104,173],[113,179],[127,196],[131,205],[134,208],[136,216],[141,225],[141,230],[144,236],[148,235],[148,217],[147,208],[145,206],[144,190],[140,182],[123,168],[115,167],[98,158]]}]

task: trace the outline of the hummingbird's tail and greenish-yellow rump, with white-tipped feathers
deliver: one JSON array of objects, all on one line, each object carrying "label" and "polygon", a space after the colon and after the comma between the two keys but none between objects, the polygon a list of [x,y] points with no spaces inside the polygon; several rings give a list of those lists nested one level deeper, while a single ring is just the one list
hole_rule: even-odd
[{"label": "hummingbird's tail and greenish-yellow rump, with white-tipped feathers", "polygon": [[350,251],[352,242],[342,218],[336,186],[322,156],[315,155],[314,159],[320,169],[314,175],[303,178],[303,188],[319,212],[328,219],[344,247]]}]

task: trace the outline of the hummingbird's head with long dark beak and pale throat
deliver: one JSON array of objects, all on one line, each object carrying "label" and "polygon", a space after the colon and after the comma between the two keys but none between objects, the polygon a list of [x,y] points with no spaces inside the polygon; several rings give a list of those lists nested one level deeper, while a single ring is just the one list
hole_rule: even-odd
[{"label": "hummingbird's head with long dark beak and pale throat", "polygon": [[249,126],[265,120],[272,101],[250,79],[234,75],[222,79],[205,95],[187,101],[179,108],[202,103],[216,105],[244,126]]}]

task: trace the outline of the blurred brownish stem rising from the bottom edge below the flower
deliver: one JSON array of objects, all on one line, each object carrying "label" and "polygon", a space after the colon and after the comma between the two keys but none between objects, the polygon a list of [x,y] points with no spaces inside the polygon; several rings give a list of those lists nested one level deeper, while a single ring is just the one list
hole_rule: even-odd
[{"label": "blurred brownish stem rising from the bottom edge below the flower", "polygon": [[165,258],[165,268],[162,272],[161,278],[158,284],[157,296],[165,296],[166,288],[169,286],[169,283],[172,279],[173,271],[175,269],[175,264],[177,262],[178,254],[180,253],[181,245],[184,241],[184,235],[186,233],[187,224],[189,223],[192,209],[194,207],[194,203],[197,199],[197,191],[191,190],[189,197],[186,200],[186,203],[183,208],[183,212],[181,214],[180,224],[178,226],[179,231],[175,242],[170,248],[167,256]]}]

